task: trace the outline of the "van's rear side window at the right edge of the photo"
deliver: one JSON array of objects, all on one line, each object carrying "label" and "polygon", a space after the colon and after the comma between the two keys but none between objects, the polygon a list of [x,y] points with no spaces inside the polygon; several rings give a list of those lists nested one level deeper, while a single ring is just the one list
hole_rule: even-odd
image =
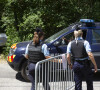
[{"label": "van's rear side window at the right edge of the photo", "polygon": [[92,30],[92,44],[100,43],[100,30]]}]

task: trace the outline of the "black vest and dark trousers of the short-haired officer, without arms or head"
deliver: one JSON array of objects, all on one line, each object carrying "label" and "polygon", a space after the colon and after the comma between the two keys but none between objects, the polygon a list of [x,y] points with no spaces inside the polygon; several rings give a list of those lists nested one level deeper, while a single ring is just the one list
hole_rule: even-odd
[{"label": "black vest and dark trousers of the short-haired officer, without arms or head", "polygon": [[84,40],[78,40],[71,42],[71,53],[74,58],[74,79],[75,79],[75,90],[82,90],[82,79],[83,76],[87,82],[87,90],[93,90],[92,81],[92,69],[90,62],[87,59],[88,55],[84,47]]}]

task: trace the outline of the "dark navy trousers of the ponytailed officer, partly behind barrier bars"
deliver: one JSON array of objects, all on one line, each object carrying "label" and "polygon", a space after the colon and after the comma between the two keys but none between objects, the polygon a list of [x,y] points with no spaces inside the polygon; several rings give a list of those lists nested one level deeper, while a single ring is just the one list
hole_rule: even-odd
[{"label": "dark navy trousers of the ponytailed officer, partly behind barrier bars", "polygon": [[[29,65],[28,65],[29,79],[32,82],[31,90],[35,90],[35,66],[36,66],[35,63],[29,63]],[[45,69],[45,65],[43,65],[43,67]],[[43,84],[44,90],[50,90],[50,86],[48,84],[47,78],[48,78],[47,74],[45,76],[45,72],[43,72],[43,83],[42,84]]]}]

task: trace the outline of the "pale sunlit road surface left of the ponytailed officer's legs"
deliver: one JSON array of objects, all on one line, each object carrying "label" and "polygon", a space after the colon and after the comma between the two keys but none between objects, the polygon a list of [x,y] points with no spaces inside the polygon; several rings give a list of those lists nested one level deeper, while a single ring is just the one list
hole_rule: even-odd
[{"label": "pale sunlit road surface left of the ponytailed officer's legs", "polygon": [[31,83],[26,82],[20,73],[14,71],[6,62],[0,63],[0,90],[30,90]]}]

